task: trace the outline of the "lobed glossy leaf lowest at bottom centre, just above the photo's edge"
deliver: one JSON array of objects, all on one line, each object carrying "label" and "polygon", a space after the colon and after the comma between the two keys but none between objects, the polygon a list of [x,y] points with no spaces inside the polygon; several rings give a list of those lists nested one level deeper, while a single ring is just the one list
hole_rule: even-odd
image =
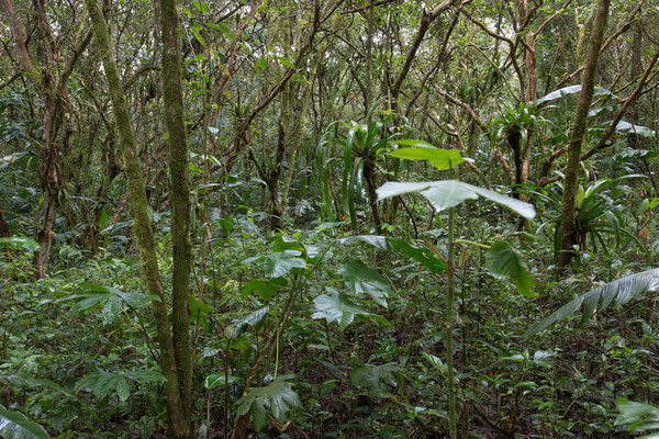
[{"label": "lobed glossy leaf lowest at bottom centre, just above the photo's edge", "polygon": [[301,408],[300,397],[293,391],[290,380],[293,375],[279,375],[265,387],[249,387],[238,399],[237,415],[242,416],[252,410],[254,429],[260,431],[267,424],[268,412],[280,423],[286,420],[288,413]]}]

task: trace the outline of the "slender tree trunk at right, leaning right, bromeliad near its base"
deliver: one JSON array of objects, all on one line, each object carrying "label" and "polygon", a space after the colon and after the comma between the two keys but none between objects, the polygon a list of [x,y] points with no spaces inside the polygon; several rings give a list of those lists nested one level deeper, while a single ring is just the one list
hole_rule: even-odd
[{"label": "slender tree trunk at right, leaning right, bromeliad near its base", "polygon": [[599,0],[597,13],[593,30],[590,35],[590,45],[585,69],[583,71],[583,82],[579,95],[577,115],[574,116],[574,126],[568,146],[568,168],[563,183],[562,195],[562,215],[560,222],[560,248],[558,252],[557,273],[560,273],[570,263],[574,251],[574,204],[577,190],[579,187],[579,162],[581,161],[581,145],[585,136],[585,124],[588,112],[593,100],[593,90],[595,87],[595,75],[597,72],[597,60],[600,58],[600,48],[606,32],[606,20],[608,18],[608,8],[611,0]]}]

